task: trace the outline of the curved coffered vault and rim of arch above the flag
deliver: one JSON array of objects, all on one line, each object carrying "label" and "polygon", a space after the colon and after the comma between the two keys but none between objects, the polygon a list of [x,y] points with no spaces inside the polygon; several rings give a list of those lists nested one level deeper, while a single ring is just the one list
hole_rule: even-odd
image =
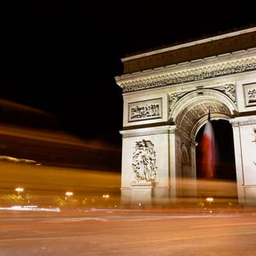
[{"label": "curved coffered vault and rim of arch above the flag", "polygon": [[170,109],[170,120],[195,140],[196,133],[207,122],[209,109],[213,120],[229,120],[237,112],[236,102],[225,93],[214,89],[195,90],[184,94]]}]

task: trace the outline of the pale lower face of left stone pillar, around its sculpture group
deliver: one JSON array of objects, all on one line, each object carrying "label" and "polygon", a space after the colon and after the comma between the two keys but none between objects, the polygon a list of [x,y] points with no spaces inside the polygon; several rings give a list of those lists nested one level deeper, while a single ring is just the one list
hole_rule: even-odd
[{"label": "pale lower face of left stone pillar, around its sculpture group", "polygon": [[[168,204],[169,203],[169,125],[131,129],[121,132],[122,147],[122,203],[124,204]],[[150,141],[150,146],[137,150],[138,143]],[[156,158],[152,180],[140,179],[140,175],[152,168],[148,150],[152,150]],[[137,150],[137,151],[136,151]],[[153,157],[153,158],[154,158]],[[151,159],[151,160],[150,160]],[[140,166],[141,164],[141,166]],[[147,166],[147,164],[149,164]],[[138,173],[134,172],[138,168]],[[145,168],[145,169],[144,169]],[[142,173],[142,174],[140,174]]]}]

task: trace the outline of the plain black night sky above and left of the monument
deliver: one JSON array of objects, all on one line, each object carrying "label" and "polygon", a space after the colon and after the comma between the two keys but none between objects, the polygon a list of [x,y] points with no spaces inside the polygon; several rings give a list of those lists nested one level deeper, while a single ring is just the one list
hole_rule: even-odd
[{"label": "plain black night sky above and left of the monument", "polygon": [[236,3],[119,3],[1,6],[0,98],[52,113],[76,136],[120,146],[120,58],[255,24],[250,8]]}]

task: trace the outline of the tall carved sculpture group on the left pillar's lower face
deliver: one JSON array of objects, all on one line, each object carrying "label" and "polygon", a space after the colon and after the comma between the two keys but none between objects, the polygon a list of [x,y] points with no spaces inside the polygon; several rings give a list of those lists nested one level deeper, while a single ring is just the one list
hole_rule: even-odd
[{"label": "tall carved sculpture group on the left pillar's lower face", "polygon": [[156,152],[150,140],[136,141],[132,155],[132,169],[136,182],[150,182],[156,180]]}]

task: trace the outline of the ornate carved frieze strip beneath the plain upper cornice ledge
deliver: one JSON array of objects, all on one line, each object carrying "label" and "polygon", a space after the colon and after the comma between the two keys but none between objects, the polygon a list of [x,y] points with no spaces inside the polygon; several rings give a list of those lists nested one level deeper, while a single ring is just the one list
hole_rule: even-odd
[{"label": "ornate carved frieze strip beneath the plain upper cornice ledge", "polygon": [[239,74],[252,70],[256,70],[255,57],[241,58],[196,68],[187,68],[176,72],[157,74],[156,76],[138,77],[130,81],[122,81],[122,77],[120,77],[120,79],[116,79],[116,81],[123,88],[123,92],[135,92],[150,88],[170,86],[172,84],[189,83],[214,77]]}]

